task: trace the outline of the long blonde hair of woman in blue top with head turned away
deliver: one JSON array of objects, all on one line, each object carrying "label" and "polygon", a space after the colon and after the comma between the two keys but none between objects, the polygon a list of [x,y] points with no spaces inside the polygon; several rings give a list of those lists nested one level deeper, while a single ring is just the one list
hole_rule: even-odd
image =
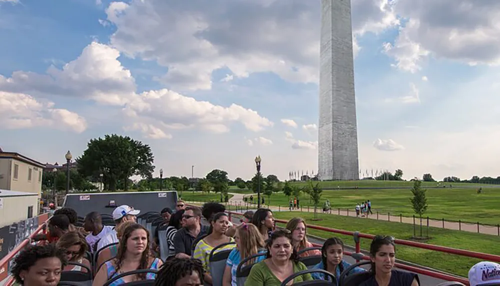
[{"label": "long blonde hair of woman in blue top with head turned away", "polygon": [[[257,227],[252,224],[242,223],[236,228],[236,234],[239,237],[239,256],[241,260],[255,255],[264,248],[264,239]],[[245,265],[255,263],[255,258],[250,259]]]}]

